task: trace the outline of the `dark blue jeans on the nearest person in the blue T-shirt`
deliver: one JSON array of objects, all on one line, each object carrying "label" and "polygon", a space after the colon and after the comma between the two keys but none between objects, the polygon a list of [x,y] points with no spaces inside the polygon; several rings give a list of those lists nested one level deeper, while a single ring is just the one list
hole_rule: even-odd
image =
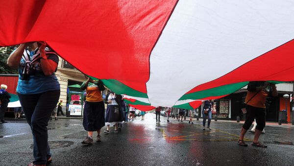
[{"label": "dark blue jeans on the nearest person in the blue T-shirt", "polygon": [[18,94],[20,103],[25,112],[25,118],[29,124],[34,141],[35,165],[45,165],[51,157],[48,145],[48,121],[53,109],[56,107],[60,90],[47,91],[42,94],[21,95]]}]

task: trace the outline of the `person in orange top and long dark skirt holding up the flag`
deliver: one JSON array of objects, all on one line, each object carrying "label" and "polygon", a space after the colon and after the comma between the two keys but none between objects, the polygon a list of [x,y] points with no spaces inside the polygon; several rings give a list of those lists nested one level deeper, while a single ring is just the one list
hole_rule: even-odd
[{"label": "person in orange top and long dark skirt holding up the flag", "polygon": [[105,90],[101,80],[92,80],[86,76],[86,81],[81,85],[81,90],[86,90],[86,102],[83,116],[83,127],[88,132],[88,136],[82,143],[94,143],[93,133],[96,131],[96,142],[101,141],[100,130],[105,126],[104,102],[101,91]]}]

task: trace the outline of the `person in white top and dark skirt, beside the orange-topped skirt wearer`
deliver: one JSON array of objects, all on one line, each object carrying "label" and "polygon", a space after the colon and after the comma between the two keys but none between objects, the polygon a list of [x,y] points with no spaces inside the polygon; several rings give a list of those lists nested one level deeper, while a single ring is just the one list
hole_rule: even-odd
[{"label": "person in white top and dark skirt, beside the orange-topped skirt wearer", "polygon": [[110,132],[110,125],[115,125],[114,132],[118,132],[118,124],[123,123],[123,111],[121,107],[122,95],[117,95],[110,92],[105,97],[105,103],[107,103],[105,122],[106,130],[104,133]]}]

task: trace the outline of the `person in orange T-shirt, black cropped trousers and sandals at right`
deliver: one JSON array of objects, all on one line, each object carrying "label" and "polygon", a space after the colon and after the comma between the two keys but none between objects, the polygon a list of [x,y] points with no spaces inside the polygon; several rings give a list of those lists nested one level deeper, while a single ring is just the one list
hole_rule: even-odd
[{"label": "person in orange T-shirt, black cropped trousers and sandals at right", "polygon": [[256,119],[256,128],[254,132],[254,138],[251,143],[253,146],[257,147],[268,147],[259,142],[259,137],[266,125],[266,98],[269,95],[277,96],[277,87],[273,83],[266,81],[251,81],[247,86],[247,95],[245,98],[246,103],[246,120],[242,126],[238,144],[241,146],[247,146],[244,142],[244,136],[252,125],[254,119]]}]

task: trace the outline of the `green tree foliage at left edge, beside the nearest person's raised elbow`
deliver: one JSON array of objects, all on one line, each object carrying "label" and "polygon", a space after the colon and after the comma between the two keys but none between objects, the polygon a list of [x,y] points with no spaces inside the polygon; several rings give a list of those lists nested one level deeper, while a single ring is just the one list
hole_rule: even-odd
[{"label": "green tree foliage at left edge, beside the nearest person's raised elbow", "polygon": [[7,58],[14,48],[15,46],[0,47],[0,74],[18,74],[17,70],[13,70],[7,66]]}]

